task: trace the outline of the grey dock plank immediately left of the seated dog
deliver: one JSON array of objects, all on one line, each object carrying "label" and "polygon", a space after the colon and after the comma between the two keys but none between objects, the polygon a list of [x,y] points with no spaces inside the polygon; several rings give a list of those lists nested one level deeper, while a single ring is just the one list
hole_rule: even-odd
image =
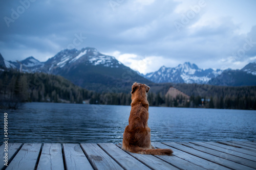
[{"label": "grey dock plank immediately left of the seated dog", "polygon": [[113,143],[98,143],[98,145],[124,169],[150,169]]}]

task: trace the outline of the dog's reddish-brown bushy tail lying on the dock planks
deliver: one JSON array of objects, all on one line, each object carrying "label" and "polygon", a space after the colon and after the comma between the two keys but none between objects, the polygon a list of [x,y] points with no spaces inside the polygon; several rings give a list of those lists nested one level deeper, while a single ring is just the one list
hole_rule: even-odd
[{"label": "dog's reddish-brown bushy tail lying on the dock planks", "polygon": [[171,149],[143,149],[140,147],[135,147],[131,150],[131,152],[137,154],[146,154],[146,155],[173,155],[173,150]]}]

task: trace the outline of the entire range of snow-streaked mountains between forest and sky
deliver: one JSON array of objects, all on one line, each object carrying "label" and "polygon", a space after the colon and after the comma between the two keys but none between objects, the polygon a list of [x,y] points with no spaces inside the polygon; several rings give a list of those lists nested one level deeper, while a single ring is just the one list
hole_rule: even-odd
[{"label": "entire range of snow-streaked mountains between forest and sky", "polygon": [[[249,63],[241,70],[221,70],[201,69],[195,63],[185,62],[176,67],[163,65],[157,71],[143,75],[123,65],[115,57],[101,54],[94,47],[84,47],[81,50],[65,49],[45,62],[40,62],[32,56],[17,62],[6,61],[1,57],[0,54],[1,69],[14,68],[23,72],[46,72],[60,75],[76,85],[90,90],[100,89],[99,91],[108,87],[122,90],[123,86],[130,86],[135,81],[224,86],[256,85],[253,81],[254,77],[256,78],[256,63]],[[239,75],[247,77],[252,83],[240,78]]]}]

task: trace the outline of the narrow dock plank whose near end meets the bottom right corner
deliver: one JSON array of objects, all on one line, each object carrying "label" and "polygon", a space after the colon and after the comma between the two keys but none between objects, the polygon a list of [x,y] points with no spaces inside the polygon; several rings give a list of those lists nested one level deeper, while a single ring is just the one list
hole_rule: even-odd
[{"label": "narrow dock plank whose near end meets the bottom right corner", "polygon": [[[233,162],[233,161],[230,161],[230,160],[218,157],[218,156],[214,156],[214,155],[211,155],[211,154],[208,154],[208,153],[204,153],[202,151],[198,151],[198,150],[186,147],[186,146],[178,144],[178,143],[164,142],[164,144],[169,145],[170,147],[176,148],[178,150],[187,152],[189,154],[198,156],[200,158],[206,159],[208,161],[215,162],[217,164],[223,165],[223,166],[228,167],[228,168],[242,169],[242,170],[244,170],[244,169],[253,169],[251,167],[241,165],[239,163],[236,163],[236,162]],[[216,167],[216,169],[218,169],[218,167]]]}]

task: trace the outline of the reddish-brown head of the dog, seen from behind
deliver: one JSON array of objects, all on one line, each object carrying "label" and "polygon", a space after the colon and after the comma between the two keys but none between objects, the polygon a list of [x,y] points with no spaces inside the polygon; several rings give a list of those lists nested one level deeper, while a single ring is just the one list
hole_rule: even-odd
[{"label": "reddish-brown head of the dog, seen from behind", "polygon": [[150,90],[149,86],[135,82],[132,85],[132,91],[131,91],[132,100],[133,100],[134,96],[144,96],[145,99],[147,99],[147,92],[149,90]]}]

